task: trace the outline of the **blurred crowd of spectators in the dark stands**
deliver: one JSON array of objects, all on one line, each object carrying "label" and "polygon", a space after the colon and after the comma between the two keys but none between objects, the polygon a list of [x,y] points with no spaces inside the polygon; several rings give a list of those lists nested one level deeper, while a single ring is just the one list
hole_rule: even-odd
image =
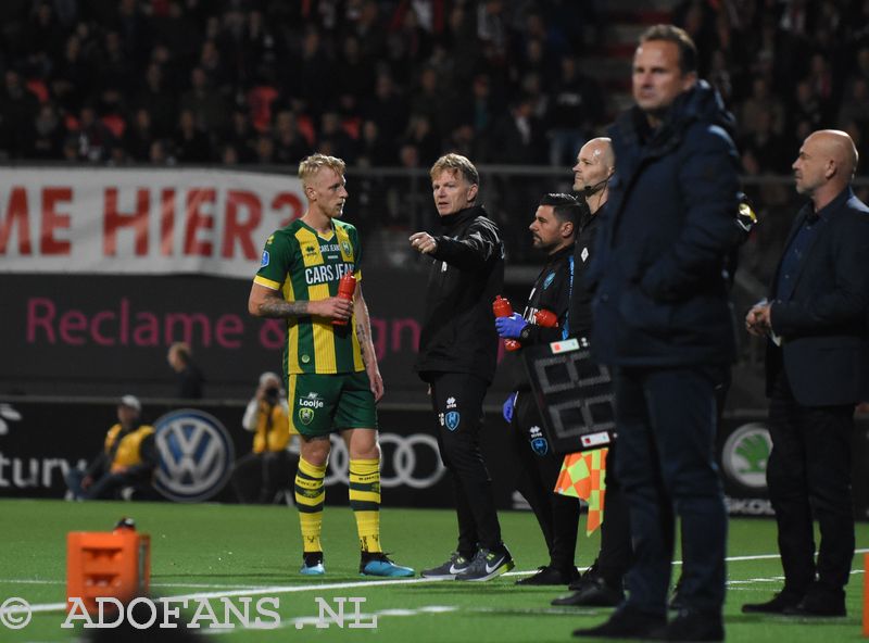
[{"label": "blurred crowd of spectators in the dark stands", "polygon": [[[564,166],[615,112],[614,88],[587,70],[610,51],[600,0],[3,5],[9,160],[295,164],[322,151],[426,167],[449,149]],[[869,3],[688,0],[672,18],[738,116],[748,174],[786,173],[821,126],[866,150]]]}]

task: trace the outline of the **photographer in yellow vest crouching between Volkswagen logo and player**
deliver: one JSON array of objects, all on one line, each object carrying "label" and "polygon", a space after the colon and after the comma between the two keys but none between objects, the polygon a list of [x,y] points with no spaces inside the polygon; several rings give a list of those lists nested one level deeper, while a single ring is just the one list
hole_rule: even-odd
[{"label": "photographer in yellow vest crouching between Volkswagen logo and player", "polygon": [[241,426],[253,432],[253,451],[239,458],[232,488],[240,503],[270,504],[289,486],[299,466],[299,445],[292,440],[289,406],[281,395],[280,378],[260,376],[256,394],[248,403]]}]

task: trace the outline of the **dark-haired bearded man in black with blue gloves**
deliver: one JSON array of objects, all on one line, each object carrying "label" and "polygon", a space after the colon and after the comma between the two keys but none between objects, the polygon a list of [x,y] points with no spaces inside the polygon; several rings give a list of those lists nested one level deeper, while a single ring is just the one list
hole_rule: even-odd
[{"label": "dark-haired bearded man in black with blue gloves", "polygon": [[[495,319],[498,335],[521,348],[567,339],[574,290],[574,241],[584,207],[569,194],[546,194],[540,200],[529,229],[534,249],[546,254],[545,265],[531,287],[524,312]],[[556,326],[539,326],[534,315],[546,311],[555,315]],[[574,557],[579,527],[579,501],[553,492],[564,457],[555,453],[540,427],[543,419],[521,353],[507,360],[513,391],[504,403],[503,415],[509,425],[509,440],[518,463],[517,489],[531,505],[549,550],[547,565],[516,581],[520,585],[567,585],[579,578]]]}]

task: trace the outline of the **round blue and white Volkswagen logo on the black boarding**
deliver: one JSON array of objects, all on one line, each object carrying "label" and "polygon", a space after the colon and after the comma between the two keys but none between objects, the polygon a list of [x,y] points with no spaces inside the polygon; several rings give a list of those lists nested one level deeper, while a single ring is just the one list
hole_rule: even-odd
[{"label": "round blue and white Volkswagen logo on the black boarding", "polygon": [[174,411],[154,423],[160,466],[154,488],[176,502],[200,502],[217,494],[232,474],[232,441],[221,421],[192,408]]}]

